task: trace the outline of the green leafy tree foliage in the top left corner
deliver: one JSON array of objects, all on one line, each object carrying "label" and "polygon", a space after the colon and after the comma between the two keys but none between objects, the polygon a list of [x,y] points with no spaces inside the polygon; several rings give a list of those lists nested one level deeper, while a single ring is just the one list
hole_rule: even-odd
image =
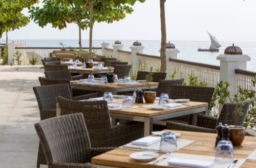
[{"label": "green leafy tree foliage in the top left corner", "polygon": [[38,0],[0,0],[0,38],[4,32],[8,33],[26,26],[30,19],[22,11],[35,3],[38,3]]}]

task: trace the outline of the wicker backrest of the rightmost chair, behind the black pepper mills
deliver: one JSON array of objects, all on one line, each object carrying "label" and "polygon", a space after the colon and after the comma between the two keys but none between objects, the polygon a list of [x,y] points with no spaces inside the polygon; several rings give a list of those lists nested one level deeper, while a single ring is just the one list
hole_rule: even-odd
[{"label": "wicker backrest of the rightmost chair, behind the black pepper mills", "polygon": [[224,103],[217,124],[243,126],[249,105],[250,99],[236,103]]}]

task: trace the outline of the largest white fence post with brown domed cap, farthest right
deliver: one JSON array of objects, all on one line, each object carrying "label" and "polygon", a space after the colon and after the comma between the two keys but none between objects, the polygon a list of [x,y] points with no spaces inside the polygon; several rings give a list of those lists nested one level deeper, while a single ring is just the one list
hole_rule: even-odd
[{"label": "largest white fence post with brown domed cap, farthest right", "polygon": [[[234,47],[232,51],[237,51]],[[240,48],[239,48],[240,49]],[[230,51],[230,50],[229,50]],[[230,95],[233,96],[237,92],[236,86],[236,74],[234,73],[235,69],[246,70],[246,62],[250,61],[251,58],[248,55],[242,54],[241,52],[234,52],[233,54],[228,52],[228,48],[225,49],[224,54],[220,54],[217,57],[217,60],[220,60],[220,81],[227,81],[231,85],[229,86]]]}]

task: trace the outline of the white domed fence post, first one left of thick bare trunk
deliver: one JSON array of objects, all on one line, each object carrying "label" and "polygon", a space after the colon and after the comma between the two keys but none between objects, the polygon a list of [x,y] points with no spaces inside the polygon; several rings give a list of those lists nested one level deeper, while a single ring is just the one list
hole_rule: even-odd
[{"label": "white domed fence post, first one left of thick bare trunk", "polygon": [[133,73],[137,73],[138,71],[138,57],[137,53],[143,53],[144,47],[141,45],[140,42],[134,42],[133,45],[130,47],[131,48],[131,56],[132,56],[132,70]]}]

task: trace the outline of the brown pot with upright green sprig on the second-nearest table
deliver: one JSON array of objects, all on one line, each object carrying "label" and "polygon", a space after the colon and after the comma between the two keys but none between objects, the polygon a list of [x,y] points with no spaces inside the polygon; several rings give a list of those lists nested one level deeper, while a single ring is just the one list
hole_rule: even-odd
[{"label": "brown pot with upright green sprig on the second-nearest table", "polygon": [[148,91],[144,91],[144,99],[146,103],[154,103],[156,100],[156,92],[150,90],[151,82],[153,81],[152,69],[153,67],[151,67],[150,72],[145,77],[146,85],[148,87]]}]

